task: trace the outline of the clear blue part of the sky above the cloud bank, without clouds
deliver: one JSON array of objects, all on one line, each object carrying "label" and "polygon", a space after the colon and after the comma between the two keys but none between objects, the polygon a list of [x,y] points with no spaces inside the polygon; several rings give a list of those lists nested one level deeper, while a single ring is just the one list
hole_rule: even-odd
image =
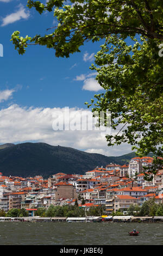
[{"label": "clear blue part of the sky above the cloud bank, without clouds", "polygon": [[[26,5],[22,7],[25,8]],[[0,1],[0,8],[3,10],[3,19],[20,9],[20,1]],[[28,19],[21,19],[3,27],[1,25],[1,44],[4,46],[4,57],[1,58],[2,89],[21,84],[22,89],[14,95],[15,102],[21,105],[85,108],[84,102],[89,101],[95,93],[82,90],[83,81],[77,82],[74,78],[92,72],[89,70],[91,61],[84,61],[83,56],[84,53],[88,53],[89,56],[96,53],[101,43],[89,42],[81,47],[81,53],[74,53],[70,58],[57,58],[54,50],[49,50],[45,46],[31,46],[26,54],[20,56],[10,42],[11,34],[16,30],[23,36],[47,33],[46,29],[53,26],[53,20],[52,13],[40,15],[34,9],[30,9]]]}]

